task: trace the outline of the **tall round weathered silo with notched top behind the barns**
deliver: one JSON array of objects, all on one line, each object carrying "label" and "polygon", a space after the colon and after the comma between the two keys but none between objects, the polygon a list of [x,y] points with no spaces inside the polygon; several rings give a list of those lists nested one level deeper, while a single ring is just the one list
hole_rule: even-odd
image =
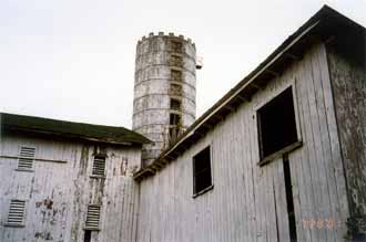
[{"label": "tall round weathered silo with notched top behind the barns", "polygon": [[195,45],[183,35],[143,36],[136,46],[133,130],[154,144],[142,151],[154,160],[195,119]]}]

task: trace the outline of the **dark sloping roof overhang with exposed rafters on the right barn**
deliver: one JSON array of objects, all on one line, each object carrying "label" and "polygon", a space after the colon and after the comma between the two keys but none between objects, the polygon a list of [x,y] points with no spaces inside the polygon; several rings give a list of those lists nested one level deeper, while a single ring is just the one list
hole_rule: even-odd
[{"label": "dark sloping roof overhang with exposed rafters on the right barn", "polygon": [[295,33],[289,35],[266,60],[253,72],[238,82],[218,102],[197,118],[179,139],[166,148],[151,165],[134,173],[136,180],[154,175],[166,164],[176,159],[192,144],[202,138],[225,116],[234,112],[238,105],[251,102],[251,97],[265,85],[281,75],[284,66],[302,59],[306,49],[315,41],[332,41],[336,35],[353,30],[365,36],[365,28],[324,6],[315,15],[305,22]]}]

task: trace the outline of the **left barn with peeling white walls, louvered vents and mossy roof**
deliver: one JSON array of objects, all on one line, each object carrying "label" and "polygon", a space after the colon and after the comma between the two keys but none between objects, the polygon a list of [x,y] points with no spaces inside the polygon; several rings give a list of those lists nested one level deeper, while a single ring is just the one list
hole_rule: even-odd
[{"label": "left barn with peeling white walls, louvered vents and mossy roof", "polygon": [[135,240],[132,172],[146,138],[121,127],[12,114],[0,120],[1,242]]}]

